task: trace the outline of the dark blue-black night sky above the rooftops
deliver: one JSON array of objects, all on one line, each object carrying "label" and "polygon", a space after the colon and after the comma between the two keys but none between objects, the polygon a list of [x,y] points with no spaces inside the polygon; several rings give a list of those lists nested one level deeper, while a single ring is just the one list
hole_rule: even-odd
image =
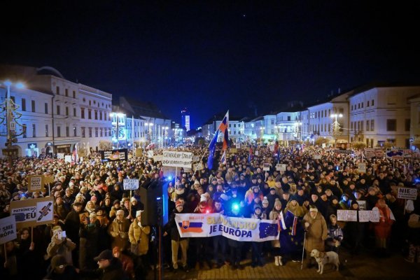
[{"label": "dark blue-black night sky above the rooftops", "polygon": [[0,63],[55,67],[179,123],[187,107],[192,127],[372,81],[420,85],[418,1],[56,2],[3,4]]}]

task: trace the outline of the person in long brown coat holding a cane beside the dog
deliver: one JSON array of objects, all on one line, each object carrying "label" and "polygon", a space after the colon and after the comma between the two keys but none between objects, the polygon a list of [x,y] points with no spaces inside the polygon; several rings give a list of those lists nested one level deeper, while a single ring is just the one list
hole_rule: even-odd
[{"label": "person in long brown coat holding a cane beside the dog", "polygon": [[325,250],[325,239],[328,237],[328,227],[325,218],[315,206],[309,208],[309,213],[303,217],[304,229],[306,230],[306,239],[304,240],[304,249],[309,259],[308,268],[316,265],[315,260],[311,258],[311,251],[317,249],[320,252]]}]

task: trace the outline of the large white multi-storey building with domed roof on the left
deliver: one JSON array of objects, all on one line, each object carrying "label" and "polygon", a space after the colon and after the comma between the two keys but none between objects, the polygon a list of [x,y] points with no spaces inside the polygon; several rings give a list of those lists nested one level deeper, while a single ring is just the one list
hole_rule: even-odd
[{"label": "large white multi-storey building with domed roof on the left", "polygon": [[[29,144],[36,146],[38,153],[70,154],[76,144],[87,142],[90,148],[97,150],[99,141],[111,141],[111,94],[66,80],[49,66],[37,69],[2,65],[0,74],[2,78],[11,76],[25,81],[28,91],[18,92],[15,98],[20,105],[25,99],[27,109],[22,111],[22,119],[27,120],[26,138],[31,136]],[[49,101],[45,94],[50,96]],[[35,112],[32,111],[33,103]],[[43,121],[35,123],[33,117],[43,118]],[[23,138],[18,141],[22,148],[27,147],[27,139],[21,140]],[[35,152],[25,148],[20,155]]]}]

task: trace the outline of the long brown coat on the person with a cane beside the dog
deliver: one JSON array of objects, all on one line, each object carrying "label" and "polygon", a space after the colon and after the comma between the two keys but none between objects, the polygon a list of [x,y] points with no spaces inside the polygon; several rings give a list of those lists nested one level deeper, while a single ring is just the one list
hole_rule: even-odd
[{"label": "long brown coat on the person with a cane beside the dog", "polygon": [[306,240],[304,248],[307,252],[317,249],[318,251],[325,251],[324,241],[328,237],[328,228],[325,219],[321,213],[317,213],[315,218],[311,218],[311,214],[307,213],[303,217],[302,225],[309,223],[309,228],[306,233]]}]

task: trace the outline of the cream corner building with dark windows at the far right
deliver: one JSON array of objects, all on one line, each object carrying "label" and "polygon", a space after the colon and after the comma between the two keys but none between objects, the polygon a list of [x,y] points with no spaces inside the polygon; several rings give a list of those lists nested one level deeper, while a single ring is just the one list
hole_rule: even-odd
[{"label": "cream corner building with dark windows at the far right", "polygon": [[[409,148],[410,127],[414,122],[413,137],[419,116],[416,116],[416,99],[419,86],[371,86],[356,89],[349,97],[350,140],[363,141],[368,147],[383,146],[386,142],[395,147]],[[414,112],[410,114],[411,101]]]}]

